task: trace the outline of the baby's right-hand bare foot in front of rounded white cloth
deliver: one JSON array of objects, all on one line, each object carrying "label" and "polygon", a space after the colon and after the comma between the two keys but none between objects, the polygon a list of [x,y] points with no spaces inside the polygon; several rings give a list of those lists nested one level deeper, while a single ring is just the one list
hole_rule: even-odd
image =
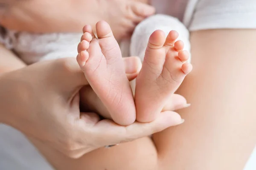
[{"label": "baby's right-hand bare foot in front of rounded white cloth", "polygon": [[176,31],[170,31],[166,38],[163,31],[157,30],[149,38],[136,80],[135,104],[139,122],[153,121],[192,70],[192,65],[186,63],[189,53],[183,51],[183,42],[176,41],[177,37]]}]

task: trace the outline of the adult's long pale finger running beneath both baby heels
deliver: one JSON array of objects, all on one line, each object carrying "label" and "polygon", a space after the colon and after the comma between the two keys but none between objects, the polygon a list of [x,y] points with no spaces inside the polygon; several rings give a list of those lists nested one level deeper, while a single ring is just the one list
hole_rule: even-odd
[{"label": "adult's long pale finger running beneath both baby heels", "polygon": [[117,125],[111,120],[99,121],[93,128],[96,139],[101,146],[128,142],[153,133],[160,132],[167,127],[183,123],[178,113],[165,111],[158,114],[157,119],[149,123],[134,122],[129,126]]}]

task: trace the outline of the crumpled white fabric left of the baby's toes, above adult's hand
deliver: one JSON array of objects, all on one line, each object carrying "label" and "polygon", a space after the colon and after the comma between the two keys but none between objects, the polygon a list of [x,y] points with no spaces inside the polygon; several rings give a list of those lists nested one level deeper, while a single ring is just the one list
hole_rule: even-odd
[{"label": "crumpled white fabric left of the baby's toes, above adult's hand", "polygon": [[12,49],[27,64],[34,62],[76,57],[82,33],[32,34],[6,30],[0,43]]}]

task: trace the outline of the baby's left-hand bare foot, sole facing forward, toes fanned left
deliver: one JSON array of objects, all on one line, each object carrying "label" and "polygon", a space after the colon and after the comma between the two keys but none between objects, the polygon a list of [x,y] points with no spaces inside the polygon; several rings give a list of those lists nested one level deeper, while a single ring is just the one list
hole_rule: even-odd
[{"label": "baby's left-hand bare foot, sole facing forward, toes fanned left", "polygon": [[130,125],[136,119],[134,98],[125,74],[118,43],[105,21],[96,24],[97,36],[85,26],[78,46],[77,61],[95,93],[120,125]]}]

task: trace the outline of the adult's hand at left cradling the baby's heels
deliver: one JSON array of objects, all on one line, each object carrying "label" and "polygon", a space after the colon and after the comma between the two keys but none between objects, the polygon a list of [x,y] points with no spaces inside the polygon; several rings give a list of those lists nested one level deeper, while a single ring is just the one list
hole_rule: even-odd
[{"label": "adult's hand at left cradling the baby's heels", "polygon": [[87,84],[74,58],[38,62],[1,75],[0,108],[8,113],[1,121],[73,158],[182,122],[177,113],[165,111],[153,122],[124,127],[100,120],[96,113],[80,113],[79,90]]}]

